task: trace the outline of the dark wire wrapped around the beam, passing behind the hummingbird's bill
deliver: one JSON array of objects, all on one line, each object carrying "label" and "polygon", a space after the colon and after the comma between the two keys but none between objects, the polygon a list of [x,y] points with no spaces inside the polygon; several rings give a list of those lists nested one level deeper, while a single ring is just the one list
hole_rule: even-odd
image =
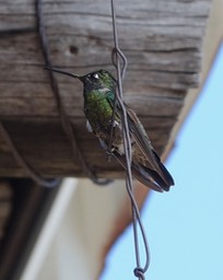
[{"label": "dark wire wrapped around the beam, passing behind the hummingbird's bill", "polygon": [[[36,11],[37,11],[37,13],[36,13],[37,14],[37,25],[38,25],[39,36],[40,36],[42,51],[43,51],[43,55],[44,55],[45,63],[48,67],[51,67],[51,61],[50,61],[50,56],[49,56],[49,48],[48,48],[48,42],[47,42],[45,24],[44,24],[42,0],[36,0]],[[85,162],[83,153],[80,150],[78,141],[77,141],[77,138],[75,138],[74,128],[73,128],[72,124],[68,119],[64,106],[63,106],[63,104],[61,102],[57,80],[55,79],[55,75],[54,75],[54,73],[51,71],[49,71],[48,73],[49,73],[49,80],[50,80],[50,85],[51,85],[52,94],[54,94],[55,100],[57,102],[58,110],[59,110],[59,114],[60,114],[60,119],[61,119],[62,128],[63,128],[68,139],[71,142],[73,158],[74,159],[77,158],[77,155],[75,155],[75,151],[77,151],[83,171],[92,179],[93,183],[95,183],[97,185],[102,185],[102,186],[109,184],[111,182],[110,179],[97,178],[95,176],[94,172],[90,168],[90,166]]]}]

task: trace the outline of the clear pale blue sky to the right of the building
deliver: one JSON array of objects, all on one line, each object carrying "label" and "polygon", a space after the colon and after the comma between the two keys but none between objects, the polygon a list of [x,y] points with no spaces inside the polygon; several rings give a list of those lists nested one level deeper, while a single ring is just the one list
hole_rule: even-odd
[{"label": "clear pale blue sky to the right of the building", "polygon": [[[176,186],[153,192],[142,219],[146,279],[223,279],[223,46],[166,165]],[[137,279],[131,226],[110,252],[103,280]]]}]

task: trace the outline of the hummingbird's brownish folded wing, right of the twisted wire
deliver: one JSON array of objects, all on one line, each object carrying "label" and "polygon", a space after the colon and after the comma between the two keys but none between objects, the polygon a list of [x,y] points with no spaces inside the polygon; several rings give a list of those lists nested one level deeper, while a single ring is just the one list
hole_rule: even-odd
[{"label": "hummingbird's brownish folded wing, right of the twisted wire", "polygon": [[132,145],[134,149],[133,153],[139,154],[139,156],[137,156],[138,161],[134,161],[133,159],[134,164],[139,165],[138,172],[141,173],[142,176],[149,176],[149,180],[153,178],[153,185],[156,183],[156,185],[162,189],[169,190],[169,187],[174,185],[173,177],[153,149],[149,136],[136,113],[128,106],[126,106],[126,108],[129,130],[133,141],[136,142],[136,147],[134,144]]}]

